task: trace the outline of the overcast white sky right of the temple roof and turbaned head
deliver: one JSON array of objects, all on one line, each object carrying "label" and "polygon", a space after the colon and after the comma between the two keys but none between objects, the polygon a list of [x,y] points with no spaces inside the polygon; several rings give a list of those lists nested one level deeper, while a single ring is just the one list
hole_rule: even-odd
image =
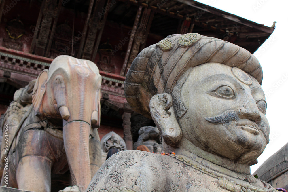
[{"label": "overcast white sky right of the temple roof and turbaned head", "polygon": [[[258,157],[258,164],[251,166],[253,174],[271,155],[287,142],[288,113],[288,64],[287,51],[288,1],[281,0],[196,0],[253,22],[276,29],[254,53],[263,69],[262,89],[266,94],[266,117],[270,124],[270,143]],[[270,93],[271,92],[271,93]]]}]

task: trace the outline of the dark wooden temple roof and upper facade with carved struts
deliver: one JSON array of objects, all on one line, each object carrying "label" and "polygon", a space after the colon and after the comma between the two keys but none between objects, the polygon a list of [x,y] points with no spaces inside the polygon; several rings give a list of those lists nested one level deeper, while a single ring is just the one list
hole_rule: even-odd
[{"label": "dark wooden temple roof and upper facade with carved struts", "polygon": [[[84,36],[78,38],[79,41],[73,42],[75,46],[74,49],[72,47],[71,55],[95,62],[103,71],[101,72],[103,85],[107,84],[111,87],[116,84],[117,91],[109,93],[121,96],[125,100],[121,88],[132,61],[143,48],[159,42],[168,35],[199,33],[229,41],[254,53],[275,28],[275,23],[267,27],[193,0],[38,0],[31,2],[20,1],[9,14],[0,15],[2,30],[9,25],[7,21],[14,21],[19,16],[21,23],[24,23],[26,31],[21,33],[26,36],[19,40],[17,46],[21,41],[23,42],[23,39],[29,40],[26,42],[29,45],[26,50],[13,50],[12,46],[7,47],[7,45],[5,48],[4,40],[2,42],[4,46],[0,47],[0,94],[2,96],[11,97],[14,88],[24,86],[31,79],[35,79],[41,70],[47,69],[52,59],[57,54],[61,54],[57,46],[62,44],[62,47],[70,46],[69,40],[75,39],[76,35],[79,37],[77,31],[82,31],[81,35]],[[9,2],[6,1],[5,4],[5,1],[0,1],[1,7],[4,8],[7,3]],[[49,9],[50,15],[47,14]],[[41,23],[44,20],[48,23]],[[139,24],[143,27],[139,28],[137,26]],[[37,33],[31,30],[40,28],[41,25],[44,30],[38,30]],[[122,31],[113,31],[118,29]],[[129,30],[132,33],[127,35]],[[120,33],[124,36],[120,37]],[[115,65],[114,71],[105,71],[105,68],[101,69],[98,63],[102,62],[99,60],[101,49],[98,47],[109,39],[109,35],[112,36],[111,41],[113,41],[110,41],[111,49],[116,47],[119,41],[125,38],[129,40],[125,40],[127,43],[123,44],[119,52],[109,56],[111,57],[109,67],[113,68]],[[6,32],[0,36],[5,38],[5,42],[12,44],[18,41],[10,39]],[[11,47],[12,49],[7,49]],[[70,50],[71,47],[67,54],[70,54]],[[22,77],[23,75],[25,78]],[[12,85],[12,91],[6,90],[3,84],[7,87],[8,84]]]}]

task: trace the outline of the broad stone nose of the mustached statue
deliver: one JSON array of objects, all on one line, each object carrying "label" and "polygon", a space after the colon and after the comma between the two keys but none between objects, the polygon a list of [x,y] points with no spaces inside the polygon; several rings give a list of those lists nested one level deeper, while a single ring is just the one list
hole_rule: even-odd
[{"label": "broad stone nose of the mustached statue", "polygon": [[245,100],[243,101],[243,104],[240,105],[238,116],[241,119],[246,118],[252,121],[257,121],[257,119],[259,119],[260,112],[252,96],[249,95],[246,96]]}]

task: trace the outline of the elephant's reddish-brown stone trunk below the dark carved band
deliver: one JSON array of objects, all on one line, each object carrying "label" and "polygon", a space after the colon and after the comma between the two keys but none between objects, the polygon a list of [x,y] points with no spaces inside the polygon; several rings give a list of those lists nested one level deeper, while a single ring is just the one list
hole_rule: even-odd
[{"label": "elephant's reddish-brown stone trunk below the dark carved band", "polygon": [[63,125],[63,140],[72,184],[77,185],[80,191],[84,192],[91,180],[89,157],[91,126],[87,122],[80,120],[70,122],[63,120]]}]

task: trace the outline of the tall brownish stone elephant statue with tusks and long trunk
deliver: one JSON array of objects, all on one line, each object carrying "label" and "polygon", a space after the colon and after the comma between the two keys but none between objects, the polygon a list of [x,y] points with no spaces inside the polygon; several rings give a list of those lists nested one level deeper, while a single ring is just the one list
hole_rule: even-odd
[{"label": "tall brownish stone elephant statue with tusks and long trunk", "polygon": [[[39,74],[33,91],[31,83],[30,88],[26,86],[23,92],[26,100],[30,97],[31,106],[13,101],[13,109],[23,117],[8,115],[3,122],[3,133],[10,132],[11,141],[9,152],[3,150],[1,154],[1,185],[9,183],[8,187],[28,191],[51,191],[51,174],[63,174],[69,169],[70,184],[85,191],[91,176],[101,166],[97,129],[101,81],[93,62],[65,55],[56,57],[49,70]],[[24,115],[22,109],[27,111]],[[7,170],[5,158],[9,158]],[[35,178],[36,182],[31,183]]]}]

